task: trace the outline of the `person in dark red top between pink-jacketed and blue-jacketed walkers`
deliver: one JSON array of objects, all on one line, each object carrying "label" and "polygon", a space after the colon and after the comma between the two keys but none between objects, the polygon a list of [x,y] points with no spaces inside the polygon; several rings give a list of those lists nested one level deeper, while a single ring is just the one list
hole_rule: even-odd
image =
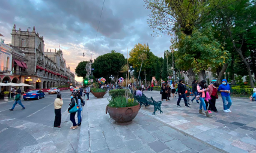
[{"label": "person in dark red top between pink-jacketed and blue-jacketed walkers", "polygon": [[208,86],[209,88],[209,94],[210,94],[210,97],[211,97],[211,102],[212,102],[212,105],[209,106],[209,110],[210,111],[213,111],[213,112],[218,112],[217,111],[217,108],[215,106],[216,104],[216,99],[218,99],[218,90],[217,88],[219,87],[219,84],[217,82],[211,84]]}]

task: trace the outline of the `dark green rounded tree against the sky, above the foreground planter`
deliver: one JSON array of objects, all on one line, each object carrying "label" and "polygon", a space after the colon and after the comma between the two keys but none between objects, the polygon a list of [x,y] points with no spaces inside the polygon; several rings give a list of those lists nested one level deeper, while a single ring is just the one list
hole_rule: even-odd
[{"label": "dark green rounded tree against the sky, above the foreground planter", "polygon": [[97,57],[93,62],[94,72],[93,75],[96,78],[108,79],[111,75],[117,77],[121,66],[126,63],[124,55],[111,51],[111,53],[103,54]]}]

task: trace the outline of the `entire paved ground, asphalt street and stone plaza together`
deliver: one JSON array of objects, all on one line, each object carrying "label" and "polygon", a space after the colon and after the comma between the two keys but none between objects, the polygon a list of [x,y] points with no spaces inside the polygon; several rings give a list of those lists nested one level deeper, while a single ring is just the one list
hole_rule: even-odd
[{"label": "entire paved ground, asphalt street and stone plaza together", "polygon": [[[102,99],[90,94],[82,111],[82,125],[70,130],[67,113],[70,91],[61,91],[64,99],[61,128],[53,127],[53,101],[56,94],[40,100],[23,101],[22,110],[13,101],[0,102],[1,152],[256,152],[255,103],[233,98],[230,114],[222,112],[207,118],[198,114],[197,103],[177,108],[177,98],[162,103],[163,114],[152,115],[153,106],[142,106],[127,125],[116,123],[105,108],[108,93]],[[159,91],[144,92],[160,100]],[[77,121],[77,118],[76,118]]]}]

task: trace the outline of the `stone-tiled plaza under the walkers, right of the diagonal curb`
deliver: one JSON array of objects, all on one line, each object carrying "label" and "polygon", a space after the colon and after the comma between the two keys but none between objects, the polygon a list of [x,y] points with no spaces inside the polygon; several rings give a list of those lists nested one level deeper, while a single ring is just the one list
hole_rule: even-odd
[{"label": "stone-tiled plaza under the walkers, right of the diagonal curb", "polygon": [[[159,91],[146,91],[147,97],[152,96],[159,101]],[[175,94],[177,95],[177,94]],[[191,108],[184,107],[181,100],[181,108],[177,108],[177,98],[163,101],[162,111],[152,115],[153,106],[144,106],[141,112],[162,121],[176,130],[189,136],[196,137],[202,142],[209,143],[216,148],[232,153],[256,152],[256,103],[248,99],[232,98],[231,113],[223,112],[222,99],[216,101],[218,113],[213,112],[211,118],[198,114],[199,104],[194,100]]]}]

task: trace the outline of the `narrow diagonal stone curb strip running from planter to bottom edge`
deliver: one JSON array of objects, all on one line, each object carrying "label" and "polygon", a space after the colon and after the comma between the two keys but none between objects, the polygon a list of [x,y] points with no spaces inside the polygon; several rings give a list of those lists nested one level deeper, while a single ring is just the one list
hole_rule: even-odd
[{"label": "narrow diagonal stone curb strip running from planter to bottom edge", "polygon": [[[141,113],[144,114],[144,115],[147,115],[150,118],[153,118],[154,120],[157,120],[156,118],[152,117],[151,115],[145,114],[144,112],[141,112]],[[203,140],[200,140],[197,137],[194,137],[194,136],[192,136],[192,135],[190,135],[190,134],[188,134],[188,133],[186,133],[184,131],[179,130],[178,128],[172,127],[169,124],[164,123],[163,121],[160,121],[160,120],[157,120],[157,121],[159,121],[160,123],[164,124],[165,126],[171,127],[172,129],[174,129],[176,131],[179,131],[180,133],[182,133],[182,134],[184,134],[184,135],[186,135],[188,137],[191,137],[192,139],[198,140],[199,142],[204,143],[204,145],[210,146],[210,147],[216,149],[219,152],[230,153],[230,152],[224,151],[223,149],[217,148],[216,146],[210,145],[209,143],[204,142]]]}]

